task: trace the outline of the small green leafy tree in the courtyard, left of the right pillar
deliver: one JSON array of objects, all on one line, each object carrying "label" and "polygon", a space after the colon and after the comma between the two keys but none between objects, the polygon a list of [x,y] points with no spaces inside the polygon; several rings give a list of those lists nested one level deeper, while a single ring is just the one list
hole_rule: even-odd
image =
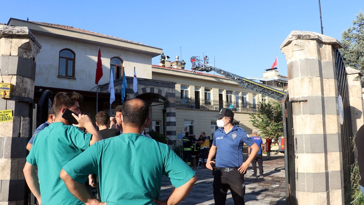
[{"label": "small green leafy tree in the courtyard, left of the right pillar", "polygon": [[257,114],[249,114],[250,122],[260,129],[260,136],[265,139],[278,139],[283,136],[282,105],[279,101],[269,100],[258,108]]}]

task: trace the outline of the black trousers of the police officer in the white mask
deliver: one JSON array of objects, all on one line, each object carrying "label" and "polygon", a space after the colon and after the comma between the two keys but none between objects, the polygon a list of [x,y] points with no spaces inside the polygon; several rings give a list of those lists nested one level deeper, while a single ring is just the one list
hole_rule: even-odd
[{"label": "black trousers of the police officer in the white mask", "polygon": [[225,205],[227,190],[230,189],[235,205],[245,205],[245,183],[244,174],[238,170],[222,171],[216,170],[214,175],[214,200],[215,205]]}]

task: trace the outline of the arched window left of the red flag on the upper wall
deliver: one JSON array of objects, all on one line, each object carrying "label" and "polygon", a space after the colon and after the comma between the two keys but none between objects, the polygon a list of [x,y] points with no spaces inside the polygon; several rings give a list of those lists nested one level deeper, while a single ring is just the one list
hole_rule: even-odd
[{"label": "arched window left of the red flag on the upper wall", "polygon": [[75,57],[70,49],[59,51],[58,76],[75,77]]}]

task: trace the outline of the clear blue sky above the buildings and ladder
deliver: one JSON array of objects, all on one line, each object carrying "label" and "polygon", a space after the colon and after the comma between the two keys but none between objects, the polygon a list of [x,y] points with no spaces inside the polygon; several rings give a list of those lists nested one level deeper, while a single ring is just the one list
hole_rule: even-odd
[{"label": "clear blue sky above the buildings and ladder", "polygon": [[[289,33],[321,33],[318,0],[13,0],[11,5],[1,11],[0,23],[28,17],[144,43],[171,59],[179,55],[187,70],[191,56],[207,55],[210,64],[243,77],[262,77],[276,56],[279,73],[286,76],[280,45]],[[363,0],[321,0],[324,34],[340,40],[363,9]],[[152,63],[158,65],[159,57]]]}]

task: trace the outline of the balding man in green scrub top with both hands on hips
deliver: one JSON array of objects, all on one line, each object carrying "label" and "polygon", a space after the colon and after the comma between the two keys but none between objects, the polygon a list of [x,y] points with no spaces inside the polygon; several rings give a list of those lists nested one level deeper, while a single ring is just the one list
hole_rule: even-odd
[{"label": "balding man in green scrub top with both hands on hips", "polygon": [[[149,106],[139,99],[125,101],[120,123],[123,134],[104,139],[67,163],[60,177],[81,201],[89,204],[177,204],[196,182],[193,171],[166,144],[141,135],[150,122]],[[99,177],[101,201],[82,184],[89,174]],[[159,200],[162,175],[176,188]]]}]

